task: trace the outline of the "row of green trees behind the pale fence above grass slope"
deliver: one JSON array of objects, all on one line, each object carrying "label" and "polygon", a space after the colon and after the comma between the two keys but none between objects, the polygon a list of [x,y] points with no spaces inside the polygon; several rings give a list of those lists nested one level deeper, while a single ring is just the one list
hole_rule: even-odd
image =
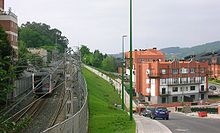
[{"label": "row of green trees behind the pale fence above grass slope", "polygon": [[105,71],[116,72],[117,61],[113,56],[103,55],[99,50],[90,52],[90,49],[85,45],[81,46],[80,52],[83,63]]}]

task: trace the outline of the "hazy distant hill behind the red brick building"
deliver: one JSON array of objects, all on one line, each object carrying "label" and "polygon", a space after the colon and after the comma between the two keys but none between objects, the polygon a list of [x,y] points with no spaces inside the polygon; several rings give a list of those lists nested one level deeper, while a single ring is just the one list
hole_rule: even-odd
[{"label": "hazy distant hill behind the red brick building", "polygon": [[214,52],[220,50],[220,41],[206,43],[194,47],[168,47],[163,48],[161,51],[166,54],[167,58],[184,58],[188,55],[197,55],[206,52]]}]

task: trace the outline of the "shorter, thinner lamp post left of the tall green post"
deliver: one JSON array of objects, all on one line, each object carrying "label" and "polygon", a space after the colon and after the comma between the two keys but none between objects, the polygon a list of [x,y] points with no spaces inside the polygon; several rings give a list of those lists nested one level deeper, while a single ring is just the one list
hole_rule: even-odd
[{"label": "shorter, thinner lamp post left of the tall green post", "polygon": [[125,66],[125,53],[124,53],[124,38],[127,37],[127,35],[122,36],[122,110],[125,110],[125,102],[124,102],[124,66]]}]

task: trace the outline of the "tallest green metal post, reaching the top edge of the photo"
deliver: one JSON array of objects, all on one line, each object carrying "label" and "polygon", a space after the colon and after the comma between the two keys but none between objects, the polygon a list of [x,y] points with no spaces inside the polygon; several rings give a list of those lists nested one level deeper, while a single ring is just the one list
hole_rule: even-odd
[{"label": "tallest green metal post, reaching the top edge of the photo", "polygon": [[130,0],[130,120],[133,119],[132,112],[132,0]]}]

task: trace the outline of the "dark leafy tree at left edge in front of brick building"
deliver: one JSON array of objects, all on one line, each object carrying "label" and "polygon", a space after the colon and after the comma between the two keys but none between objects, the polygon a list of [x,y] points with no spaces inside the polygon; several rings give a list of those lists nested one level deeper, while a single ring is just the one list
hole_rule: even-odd
[{"label": "dark leafy tree at left edge in front of brick building", "polygon": [[12,81],[15,77],[12,65],[13,50],[7,36],[0,27],[0,102],[7,100],[7,94],[13,90]]}]

